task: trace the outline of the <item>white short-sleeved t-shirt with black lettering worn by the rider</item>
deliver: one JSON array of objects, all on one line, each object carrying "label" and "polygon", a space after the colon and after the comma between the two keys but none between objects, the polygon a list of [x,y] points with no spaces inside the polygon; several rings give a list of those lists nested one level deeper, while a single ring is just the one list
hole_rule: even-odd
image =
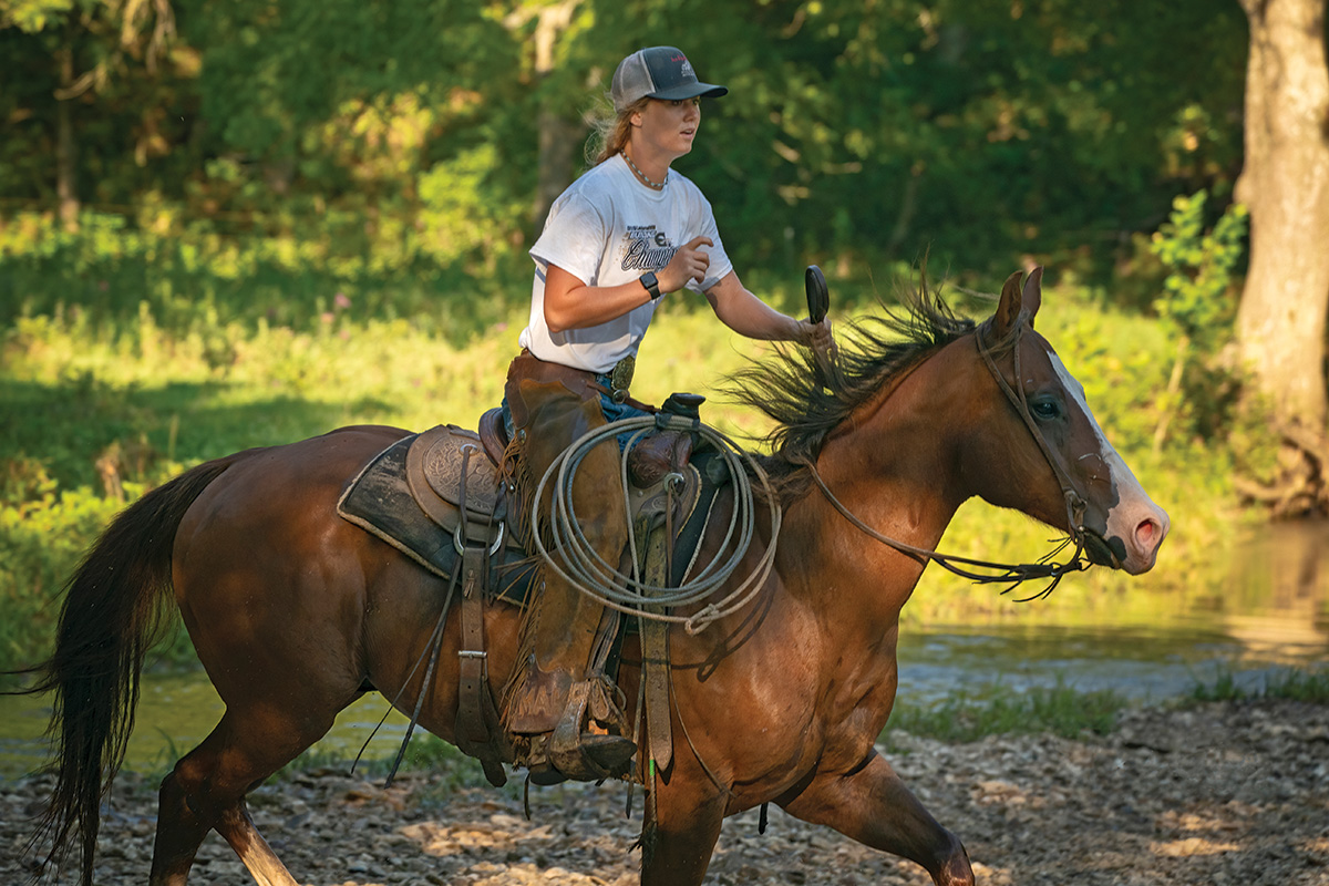
[{"label": "white short-sleeved t-shirt with black lettering worn by the rider", "polygon": [[664,190],[643,186],[615,154],[578,178],[549,210],[545,230],[530,248],[536,279],[530,321],[521,345],[541,360],[605,373],[635,355],[662,299],[586,329],[550,332],[545,324],[545,274],[557,264],[586,286],[619,286],[646,271],[658,271],[694,236],[711,238],[702,247],[711,256],[707,278],[687,288],[704,292],[734,270],[724,254],[711,205],[690,179],[670,170]]}]

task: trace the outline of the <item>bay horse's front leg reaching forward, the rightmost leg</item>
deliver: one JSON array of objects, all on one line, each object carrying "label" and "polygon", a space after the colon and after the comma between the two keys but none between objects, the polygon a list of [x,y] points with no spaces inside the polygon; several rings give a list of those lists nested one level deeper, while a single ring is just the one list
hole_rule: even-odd
[{"label": "bay horse's front leg reaching forward, the rightmost leg", "polygon": [[937,886],[973,886],[960,838],[937,824],[876,751],[849,772],[819,773],[780,805],[796,818],[918,862]]}]

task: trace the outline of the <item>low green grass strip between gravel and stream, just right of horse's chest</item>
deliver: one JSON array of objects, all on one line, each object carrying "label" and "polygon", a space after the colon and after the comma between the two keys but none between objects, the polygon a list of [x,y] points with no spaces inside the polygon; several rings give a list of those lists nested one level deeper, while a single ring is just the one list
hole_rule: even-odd
[{"label": "low green grass strip between gravel and stream, just right of horse's chest", "polygon": [[1086,732],[1106,735],[1116,725],[1126,699],[1110,691],[1080,692],[1058,681],[1027,692],[997,688],[983,696],[958,693],[929,707],[900,705],[886,727],[942,741],[977,741],[991,735],[1050,732],[1076,739]]}]

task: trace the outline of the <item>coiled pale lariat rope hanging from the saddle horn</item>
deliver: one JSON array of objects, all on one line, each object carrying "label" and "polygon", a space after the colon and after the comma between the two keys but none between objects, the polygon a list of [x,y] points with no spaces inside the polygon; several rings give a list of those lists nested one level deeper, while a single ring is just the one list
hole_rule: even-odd
[{"label": "coiled pale lariat rope hanging from the saddle horn", "polygon": [[[679,587],[661,587],[647,584],[641,578],[641,565],[637,562],[637,538],[633,529],[633,509],[629,501],[627,482],[627,456],[633,446],[653,430],[690,430],[710,442],[723,458],[728,472],[730,482],[734,484],[734,513],[730,515],[730,525],[724,534],[724,542],[718,550],[731,547],[728,558],[716,558],[702,566],[695,576],[684,580]],[[622,477],[623,510],[627,514],[627,535],[633,557],[633,574],[623,575],[618,571],[617,563],[611,565],[595,551],[582,533],[577,521],[577,510],[573,505],[573,481],[577,469],[586,454],[605,440],[613,440],[621,434],[631,433],[627,446],[622,453],[619,472]],[[706,603],[691,615],[679,615],[671,610],[698,606],[704,603],[716,590],[719,590],[734,574],[747,555],[748,546],[756,530],[756,502],[752,494],[752,481],[744,461],[752,474],[760,481],[763,498],[771,517],[771,541],[762,554],[752,571],[724,598],[712,603]],[[544,501],[545,487],[553,484],[552,507],[548,519],[548,537],[550,547],[545,546],[545,533],[541,531],[540,502]],[[732,440],[720,432],[703,425],[702,422],[683,416],[658,413],[657,416],[642,416],[638,418],[623,418],[583,434],[571,446],[554,460],[540,480],[532,501],[532,535],[541,558],[563,580],[571,582],[581,591],[602,604],[645,619],[659,622],[672,622],[682,624],[688,634],[699,634],[708,624],[738,612],[747,606],[758,591],[766,584],[775,566],[776,542],[780,538],[781,509],[779,497],[771,489],[762,465],[750,454],[743,452]]]}]

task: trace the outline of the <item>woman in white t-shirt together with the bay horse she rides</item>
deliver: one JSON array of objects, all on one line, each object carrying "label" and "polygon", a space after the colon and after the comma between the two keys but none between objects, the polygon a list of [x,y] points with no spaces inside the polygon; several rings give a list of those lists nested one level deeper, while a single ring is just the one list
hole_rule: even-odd
[{"label": "woman in white t-shirt together with the bay horse she rides", "polygon": [[[668,628],[668,692],[657,697],[679,739],[667,764],[651,757],[645,780],[642,883],[699,886],[723,820],[776,804],[918,862],[937,886],[974,886],[960,838],[876,748],[896,700],[902,607],[928,563],[961,562],[936,547],[970,498],[1071,537],[1069,563],[1010,567],[1015,580],[1059,578],[1083,566],[1082,554],[1146,573],[1168,515],[1035,331],[1041,270],[1023,283],[1013,274],[982,321],[952,313],[922,286],[902,315],[848,324],[839,363],[813,360],[831,348],[829,328],[748,292],[706,201],[668,169],[696,134],[695,100],[719,90],[675,49],[646,49],[619,66],[621,137],[558,201],[532,251],[528,352],[506,388],[510,445],[520,470],[536,476],[569,440],[623,416],[626,372],[613,371],[635,352],[657,291],[699,290],[728,327],[815,349],[781,349],[740,384],[743,400],[776,425],[760,464],[781,514],[754,521],[743,563],[711,595],[723,599],[742,584],[738,575],[759,574],[748,606],[704,631]],[[296,886],[246,796],[371,691],[461,744],[460,712],[473,700],[461,684],[476,658],[486,663],[486,692],[498,688],[492,679],[517,675],[505,693],[509,729],[570,733],[567,747],[530,740],[558,774],[578,777],[597,760],[631,753],[621,736],[578,739],[599,735],[581,719],[589,687],[602,687],[586,672],[599,603],[552,570],[544,603],[528,612],[480,607],[470,626],[486,638],[478,651],[465,604],[448,614],[447,576],[339,513],[367,466],[411,437],[356,425],[235,453],[149,491],[112,522],[68,584],[52,656],[23,689],[52,693],[54,786],[33,843],[51,853],[39,871],[77,846],[80,882],[93,886],[102,801],[134,725],[144,658],[171,610],[225,712],[161,784],[150,886],[185,886],[214,830],[256,882]],[[610,562],[623,542],[617,456],[613,440],[602,444],[571,484],[581,529]],[[711,510],[698,562],[739,547],[730,541],[740,510],[734,485]],[[645,707],[650,724],[650,693],[638,691],[658,660],[645,648],[642,638],[625,638],[618,688],[626,720]],[[643,744],[642,762],[655,748],[654,739]]]}]

